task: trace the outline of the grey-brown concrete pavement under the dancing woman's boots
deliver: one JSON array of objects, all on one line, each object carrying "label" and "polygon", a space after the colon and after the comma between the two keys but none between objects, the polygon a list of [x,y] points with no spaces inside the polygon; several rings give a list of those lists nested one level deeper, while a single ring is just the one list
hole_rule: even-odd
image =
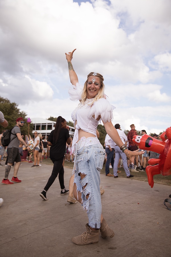
[{"label": "grey-brown concrete pavement under the dancing woman's boots", "polygon": [[[21,183],[0,183],[0,256],[2,257],[169,257],[171,256],[171,211],[163,202],[171,187],[131,178],[113,178],[101,174],[103,216],[113,228],[113,238],[101,238],[97,244],[78,246],[71,238],[85,231],[86,211],[79,203],[68,203],[60,195],[58,178],[47,193],[39,194],[52,171],[42,164],[31,168],[22,162],[18,172]],[[2,181],[5,167],[0,167]],[[68,188],[72,170],[65,168]],[[136,176],[136,174],[134,174]],[[13,176],[11,168],[9,179]]]}]

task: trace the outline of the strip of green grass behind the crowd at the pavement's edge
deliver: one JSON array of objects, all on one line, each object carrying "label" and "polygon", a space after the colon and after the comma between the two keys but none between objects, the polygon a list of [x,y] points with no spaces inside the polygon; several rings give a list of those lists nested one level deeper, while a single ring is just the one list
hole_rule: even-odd
[{"label": "strip of green grass behind the crowd at the pavement's edge", "polygon": [[[50,159],[43,159],[42,163],[48,164],[48,165],[53,165],[53,163]],[[64,167],[73,169],[73,166],[74,166],[73,162],[65,161]],[[113,169],[110,168],[109,170],[110,170],[110,173],[113,174]],[[118,176],[120,178],[126,178],[126,173],[125,173],[124,169],[118,168],[118,170],[121,170],[121,173],[119,173]],[[105,174],[105,164],[103,165],[103,168],[101,169],[101,174]],[[144,171],[132,172],[131,174],[134,175],[134,177],[131,179],[148,182],[146,172],[144,172]],[[153,177],[153,179],[154,179],[154,183],[156,183],[156,184],[171,186],[171,176],[162,176],[161,174],[158,174],[158,175],[155,175]]]}]

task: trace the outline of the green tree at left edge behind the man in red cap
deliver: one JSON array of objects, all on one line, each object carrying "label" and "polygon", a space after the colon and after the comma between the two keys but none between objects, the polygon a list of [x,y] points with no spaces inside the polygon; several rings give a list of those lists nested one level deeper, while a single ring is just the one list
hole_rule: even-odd
[{"label": "green tree at left edge behind the man in red cap", "polygon": [[[7,98],[0,97],[0,111],[3,113],[5,119],[8,121],[8,127],[7,129],[11,129],[16,125],[16,119],[19,117],[22,117],[23,119],[26,119],[27,121],[27,114],[23,111],[21,111],[18,108],[18,104],[11,103]],[[28,125],[25,121],[24,126],[21,128],[21,133],[24,135],[28,134]],[[0,130],[4,130],[3,127],[0,127]],[[30,124],[30,131],[33,130],[32,124]]]}]

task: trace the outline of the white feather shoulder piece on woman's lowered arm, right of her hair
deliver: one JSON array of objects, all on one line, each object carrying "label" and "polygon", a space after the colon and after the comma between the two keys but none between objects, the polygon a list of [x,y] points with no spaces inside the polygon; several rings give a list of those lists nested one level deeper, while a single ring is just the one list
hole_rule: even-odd
[{"label": "white feather shoulder piece on woman's lowered arm, right of her hair", "polygon": [[101,98],[93,103],[90,108],[89,117],[95,115],[95,119],[101,115],[103,122],[110,122],[113,119],[113,109],[115,109],[105,98]]}]

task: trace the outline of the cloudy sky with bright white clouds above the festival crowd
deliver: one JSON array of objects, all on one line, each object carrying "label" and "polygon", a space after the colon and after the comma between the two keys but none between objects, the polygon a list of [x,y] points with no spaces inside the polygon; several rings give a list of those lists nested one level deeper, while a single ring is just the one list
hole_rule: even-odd
[{"label": "cloudy sky with bright white clouds above the festival crowd", "polygon": [[104,77],[113,124],[159,133],[171,126],[170,0],[1,0],[0,96],[30,119],[71,121],[65,52],[79,82]]}]

